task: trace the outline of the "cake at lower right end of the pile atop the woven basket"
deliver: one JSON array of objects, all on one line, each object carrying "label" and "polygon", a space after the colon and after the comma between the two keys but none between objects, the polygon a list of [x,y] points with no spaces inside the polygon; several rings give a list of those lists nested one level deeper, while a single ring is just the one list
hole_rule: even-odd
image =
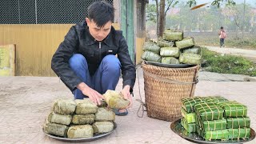
[{"label": "cake at lower right end of the pile atop the woven basket", "polygon": [[202,61],[202,56],[198,54],[182,53],[180,54],[178,61],[191,65],[200,65]]}]

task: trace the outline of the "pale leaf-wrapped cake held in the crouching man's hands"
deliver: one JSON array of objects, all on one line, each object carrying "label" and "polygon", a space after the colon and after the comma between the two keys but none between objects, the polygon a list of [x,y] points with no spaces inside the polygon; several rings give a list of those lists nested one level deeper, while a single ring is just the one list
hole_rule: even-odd
[{"label": "pale leaf-wrapped cake held in the crouching man's hands", "polygon": [[130,101],[123,98],[122,94],[118,91],[107,90],[103,96],[106,98],[106,103],[110,108],[125,109],[130,105]]}]

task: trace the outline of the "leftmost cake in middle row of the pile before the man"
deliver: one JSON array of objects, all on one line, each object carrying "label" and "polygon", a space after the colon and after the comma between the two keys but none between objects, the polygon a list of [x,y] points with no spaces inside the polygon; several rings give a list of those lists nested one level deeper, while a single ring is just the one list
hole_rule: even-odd
[{"label": "leftmost cake in middle row of the pile before the man", "polygon": [[72,116],[70,114],[55,114],[54,112],[48,115],[48,122],[58,123],[62,125],[70,125]]}]

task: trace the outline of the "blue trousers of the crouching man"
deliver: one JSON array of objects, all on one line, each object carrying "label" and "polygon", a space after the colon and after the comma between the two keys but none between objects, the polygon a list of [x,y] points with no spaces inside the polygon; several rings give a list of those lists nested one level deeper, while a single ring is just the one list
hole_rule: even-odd
[{"label": "blue trousers of the crouching man", "polygon": [[[115,90],[120,76],[121,64],[114,55],[106,55],[94,75],[90,75],[86,58],[82,54],[74,54],[70,58],[70,67],[87,86],[105,94],[106,90]],[[81,90],[74,90],[74,99],[88,98]]]}]

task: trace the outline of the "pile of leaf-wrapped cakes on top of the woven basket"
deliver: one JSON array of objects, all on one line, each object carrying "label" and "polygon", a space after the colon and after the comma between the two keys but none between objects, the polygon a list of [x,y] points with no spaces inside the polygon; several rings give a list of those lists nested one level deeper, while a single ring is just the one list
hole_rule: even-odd
[{"label": "pile of leaf-wrapped cakes on top of the woven basket", "polygon": [[201,47],[194,38],[183,38],[182,31],[165,30],[158,42],[145,42],[142,59],[164,64],[201,64]]}]

